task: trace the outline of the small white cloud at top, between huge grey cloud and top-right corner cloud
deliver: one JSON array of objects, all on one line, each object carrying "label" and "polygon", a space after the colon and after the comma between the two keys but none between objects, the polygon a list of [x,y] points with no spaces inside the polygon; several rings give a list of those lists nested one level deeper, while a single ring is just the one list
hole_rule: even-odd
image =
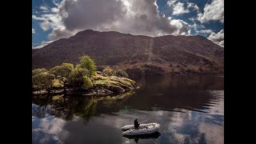
[{"label": "small white cloud at top, between huge grey cloud and top-right corner cloud", "polygon": [[177,2],[176,0],[168,1],[167,5],[170,6],[171,9],[173,10],[173,15],[186,14],[190,12],[190,10],[185,9],[184,3]]}]

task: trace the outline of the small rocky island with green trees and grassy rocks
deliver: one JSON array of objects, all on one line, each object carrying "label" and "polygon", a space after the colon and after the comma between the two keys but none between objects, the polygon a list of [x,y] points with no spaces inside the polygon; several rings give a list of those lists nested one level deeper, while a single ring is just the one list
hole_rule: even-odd
[{"label": "small rocky island with green trees and grassy rocks", "polygon": [[83,55],[75,66],[62,63],[50,70],[32,70],[32,94],[122,94],[138,87],[128,77],[126,71],[113,70],[109,66],[96,71],[94,60]]}]

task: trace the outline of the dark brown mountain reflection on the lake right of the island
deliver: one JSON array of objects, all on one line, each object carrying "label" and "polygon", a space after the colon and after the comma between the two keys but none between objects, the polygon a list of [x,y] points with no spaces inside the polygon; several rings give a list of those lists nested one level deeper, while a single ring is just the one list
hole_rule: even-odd
[{"label": "dark brown mountain reflection on the lake right of the island", "polygon": [[[139,110],[204,110],[214,105],[218,95],[209,90],[224,90],[224,78],[212,76],[142,77],[137,96],[128,103]],[[222,95],[221,95],[222,96]]]}]

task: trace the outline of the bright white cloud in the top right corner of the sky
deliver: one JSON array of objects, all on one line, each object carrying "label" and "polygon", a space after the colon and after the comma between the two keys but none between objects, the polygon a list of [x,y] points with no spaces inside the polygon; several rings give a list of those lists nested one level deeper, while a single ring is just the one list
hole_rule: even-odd
[{"label": "bright white cloud in the top right corner of the sky", "polygon": [[224,23],[224,0],[213,0],[204,7],[204,13],[198,14],[198,21],[201,23],[219,21]]}]

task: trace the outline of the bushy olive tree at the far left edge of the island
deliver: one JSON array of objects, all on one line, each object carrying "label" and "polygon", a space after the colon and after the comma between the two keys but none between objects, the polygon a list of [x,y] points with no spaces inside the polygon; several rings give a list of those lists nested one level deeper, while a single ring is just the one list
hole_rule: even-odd
[{"label": "bushy olive tree at the far left edge of the island", "polygon": [[54,74],[50,74],[46,69],[32,70],[32,88],[35,90],[47,90],[53,86]]}]

